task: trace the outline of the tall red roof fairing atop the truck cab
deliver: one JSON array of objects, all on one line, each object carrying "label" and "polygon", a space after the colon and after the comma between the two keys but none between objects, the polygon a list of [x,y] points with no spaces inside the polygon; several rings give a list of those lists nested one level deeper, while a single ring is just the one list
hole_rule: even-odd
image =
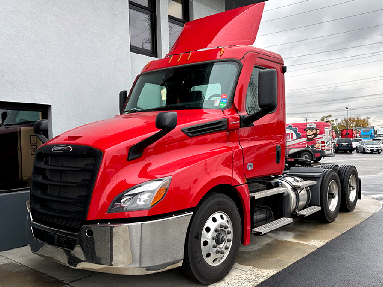
[{"label": "tall red roof fairing atop the truck cab", "polygon": [[265,3],[257,3],[187,22],[167,55],[254,44]]}]

